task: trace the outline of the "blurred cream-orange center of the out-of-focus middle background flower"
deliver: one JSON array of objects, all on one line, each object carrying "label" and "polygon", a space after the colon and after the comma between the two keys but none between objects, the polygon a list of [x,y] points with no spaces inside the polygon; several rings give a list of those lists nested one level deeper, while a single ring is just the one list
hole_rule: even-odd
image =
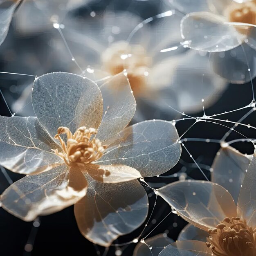
[{"label": "blurred cream-orange center of the out-of-focus middle background flower", "polygon": [[127,71],[127,76],[134,94],[142,92],[146,85],[148,67],[151,58],[146,56],[141,45],[129,45],[125,41],[118,41],[110,45],[101,55],[104,69],[112,75]]}]

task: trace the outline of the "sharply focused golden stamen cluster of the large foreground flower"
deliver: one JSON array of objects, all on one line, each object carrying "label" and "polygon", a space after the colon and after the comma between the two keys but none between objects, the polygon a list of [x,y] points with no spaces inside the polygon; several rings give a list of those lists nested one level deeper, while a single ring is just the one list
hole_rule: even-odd
[{"label": "sharply focused golden stamen cluster of the large foreground flower", "polygon": [[[80,127],[74,135],[67,127],[59,127],[57,134],[54,136],[61,142],[62,152],[58,149],[52,149],[56,155],[61,157],[68,166],[84,165],[96,161],[102,157],[103,151],[107,148],[106,145],[101,146],[99,139],[91,138],[97,134],[94,128]],[[67,144],[61,138],[61,134],[66,134]]]}]

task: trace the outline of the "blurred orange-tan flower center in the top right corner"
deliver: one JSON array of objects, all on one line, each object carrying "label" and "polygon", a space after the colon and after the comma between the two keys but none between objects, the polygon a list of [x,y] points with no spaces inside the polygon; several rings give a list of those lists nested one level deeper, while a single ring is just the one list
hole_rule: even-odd
[{"label": "blurred orange-tan flower center in the top right corner", "polygon": [[[230,22],[243,22],[256,25],[256,1],[245,3],[232,2],[225,9],[224,15]],[[245,29],[239,28],[238,31],[240,30],[245,34]]]}]

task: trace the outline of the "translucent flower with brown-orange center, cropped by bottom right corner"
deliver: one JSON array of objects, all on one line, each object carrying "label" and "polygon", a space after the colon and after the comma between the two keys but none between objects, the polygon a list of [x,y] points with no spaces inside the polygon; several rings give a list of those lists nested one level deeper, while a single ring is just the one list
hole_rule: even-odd
[{"label": "translucent flower with brown-orange center, cropped by bottom right corner", "polygon": [[255,255],[255,167],[256,150],[251,157],[222,144],[213,163],[213,182],[187,180],[159,189],[159,195],[191,223],[159,256]]}]

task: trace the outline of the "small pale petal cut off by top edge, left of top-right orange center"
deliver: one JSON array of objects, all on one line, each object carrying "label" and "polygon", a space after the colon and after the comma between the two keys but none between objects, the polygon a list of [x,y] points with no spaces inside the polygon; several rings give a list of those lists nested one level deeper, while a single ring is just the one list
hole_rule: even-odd
[{"label": "small pale petal cut off by top edge, left of top-right orange center", "polygon": [[171,0],[169,2],[171,7],[184,13],[210,11],[209,2],[207,0]]}]

